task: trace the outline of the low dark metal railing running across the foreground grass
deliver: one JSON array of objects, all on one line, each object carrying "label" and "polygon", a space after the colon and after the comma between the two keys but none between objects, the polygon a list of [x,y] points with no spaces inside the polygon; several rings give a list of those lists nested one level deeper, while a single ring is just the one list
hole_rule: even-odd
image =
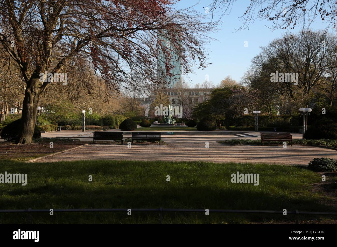
[{"label": "low dark metal railing running across the foreground grass", "polygon": [[[74,208],[74,209],[53,209],[53,212],[159,212],[160,223],[162,223],[163,212],[203,212],[206,209],[182,209],[182,208]],[[50,209],[0,209],[0,213],[42,213],[50,212]],[[236,209],[209,209],[209,213],[271,213],[283,214],[282,210],[236,210]],[[311,212],[311,211],[287,211],[287,214],[295,214],[297,216],[304,215],[337,215],[337,212]],[[297,217],[296,223],[299,223]]]}]

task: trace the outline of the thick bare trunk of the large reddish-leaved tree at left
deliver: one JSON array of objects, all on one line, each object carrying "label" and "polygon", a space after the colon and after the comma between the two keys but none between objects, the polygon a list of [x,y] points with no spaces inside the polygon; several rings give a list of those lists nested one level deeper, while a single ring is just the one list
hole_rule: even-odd
[{"label": "thick bare trunk of the large reddish-leaved tree at left", "polygon": [[22,105],[21,128],[16,144],[30,144],[33,141],[39,95],[38,88],[26,87]]}]

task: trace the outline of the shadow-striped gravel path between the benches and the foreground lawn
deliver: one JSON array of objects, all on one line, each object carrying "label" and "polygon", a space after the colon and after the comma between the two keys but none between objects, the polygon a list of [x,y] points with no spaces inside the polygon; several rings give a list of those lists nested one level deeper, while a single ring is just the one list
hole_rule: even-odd
[{"label": "shadow-striped gravel path between the benches and the foreground lawn", "polygon": [[[192,138],[189,141],[173,139],[169,145],[86,145],[74,150],[64,151],[38,162],[73,160],[166,160],[166,161],[210,161],[210,162],[253,162],[287,165],[307,165],[313,158],[327,157],[337,159],[337,152],[331,149],[310,146],[226,146],[215,142],[214,138]],[[209,148],[205,142],[209,141]]]}]

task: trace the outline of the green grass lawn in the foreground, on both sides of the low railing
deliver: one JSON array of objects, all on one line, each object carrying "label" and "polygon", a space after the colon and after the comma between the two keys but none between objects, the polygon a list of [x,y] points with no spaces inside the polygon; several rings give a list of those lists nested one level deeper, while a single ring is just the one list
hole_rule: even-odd
[{"label": "green grass lawn in the foreground, on both sides of the low railing", "polygon": [[[27,173],[27,185],[0,183],[0,209],[197,208],[333,211],[318,192],[318,173],[305,168],[240,163],[0,160],[0,173]],[[259,173],[259,185],[232,183],[231,174]],[[92,175],[93,181],[88,181]],[[170,175],[171,181],[166,181]],[[157,212],[0,213],[0,223],[158,223]],[[305,216],[301,216],[305,217]],[[316,216],[315,216],[316,217]],[[330,218],[329,216],[326,216]],[[164,213],[163,223],[248,223],[294,215]]]}]

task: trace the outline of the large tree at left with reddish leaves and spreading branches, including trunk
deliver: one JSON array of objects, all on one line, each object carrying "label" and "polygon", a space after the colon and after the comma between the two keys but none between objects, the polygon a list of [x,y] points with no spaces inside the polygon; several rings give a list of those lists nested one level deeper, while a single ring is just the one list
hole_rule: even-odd
[{"label": "large tree at left with reddish leaves and spreading branches, including trunk", "polygon": [[67,83],[66,68],[74,57],[92,61],[111,90],[157,83],[159,49],[164,51],[166,71],[172,69],[172,50],[184,73],[195,60],[206,67],[203,42],[210,39],[204,32],[214,27],[205,16],[175,10],[174,4],[173,0],[0,1],[1,48],[18,65],[26,84],[16,143],[32,142],[40,95],[50,83],[60,87]]}]

